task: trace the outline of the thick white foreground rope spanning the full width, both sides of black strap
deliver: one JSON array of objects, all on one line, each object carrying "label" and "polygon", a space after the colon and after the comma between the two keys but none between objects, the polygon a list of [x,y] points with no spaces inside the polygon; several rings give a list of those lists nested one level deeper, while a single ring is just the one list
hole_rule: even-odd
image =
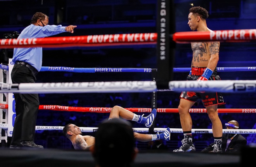
[{"label": "thick white foreground rope spanning the full width, both sides of black strap", "polygon": [[0,93],[113,93],[153,91],[255,92],[256,80],[170,81],[158,89],[155,81],[0,83]]}]

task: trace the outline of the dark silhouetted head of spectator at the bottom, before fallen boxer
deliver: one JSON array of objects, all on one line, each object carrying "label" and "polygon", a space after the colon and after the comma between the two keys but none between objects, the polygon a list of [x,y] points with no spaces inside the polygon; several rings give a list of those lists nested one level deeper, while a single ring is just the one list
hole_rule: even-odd
[{"label": "dark silhouetted head of spectator at the bottom, before fallen boxer", "polygon": [[98,167],[129,167],[138,153],[130,122],[119,118],[102,121],[90,150]]}]

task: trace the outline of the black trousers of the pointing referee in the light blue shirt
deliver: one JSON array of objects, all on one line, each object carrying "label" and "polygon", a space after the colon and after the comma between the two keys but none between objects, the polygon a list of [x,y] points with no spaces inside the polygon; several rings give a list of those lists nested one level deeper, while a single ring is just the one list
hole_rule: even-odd
[{"label": "black trousers of the pointing referee in the light blue shirt", "polygon": [[[15,64],[11,72],[12,83],[35,83],[36,75],[28,67]],[[34,141],[38,114],[38,94],[14,94],[16,119],[10,145],[21,141]]]}]

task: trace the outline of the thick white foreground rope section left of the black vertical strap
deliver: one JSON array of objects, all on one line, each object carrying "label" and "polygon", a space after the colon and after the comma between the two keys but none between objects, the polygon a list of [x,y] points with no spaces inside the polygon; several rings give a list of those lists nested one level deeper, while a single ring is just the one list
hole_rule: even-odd
[{"label": "thick white foreground rope section left of the black vertical strap", "polygon": [[152,92],[154,90],[156,90],[156,82],[154,81],[0,84],[0,93],[107,93]]}]

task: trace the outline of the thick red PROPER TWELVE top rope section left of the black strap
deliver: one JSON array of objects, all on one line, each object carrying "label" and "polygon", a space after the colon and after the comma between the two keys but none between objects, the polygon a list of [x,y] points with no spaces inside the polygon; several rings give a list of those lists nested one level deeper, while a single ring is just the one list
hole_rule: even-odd
[{"label": "thick red PROPER TWELVE top rope section left of the black strap", "polygon": [[74,46],[113,46],[156,44],[157,33],[105,34],[71,37],[45,37],[29,39],[0,39],[0,48],[45,47],[60,48]]}]

